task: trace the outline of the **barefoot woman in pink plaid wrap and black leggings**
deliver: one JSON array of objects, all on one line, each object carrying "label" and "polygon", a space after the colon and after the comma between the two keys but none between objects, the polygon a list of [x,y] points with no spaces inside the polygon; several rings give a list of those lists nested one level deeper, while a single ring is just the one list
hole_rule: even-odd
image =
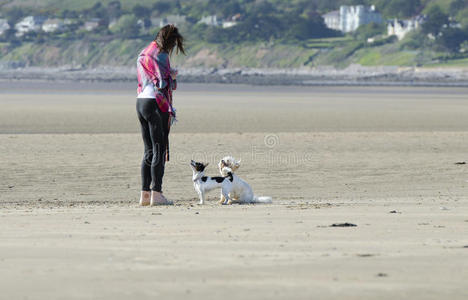
[{"label": "barefoot woman in pink plaid wrap and black leggings", "polygon": [[145,145],[141,163],[140,205],[172,205],[162,194],[164,165],[169,160],[168,135],[175,121],[172,91],[176,89],[177,70],[171,69],[169,57],[174,48],[184,50],[184,39],[177,27],[166,25],[138,56],[138,97],[136,109]]}]

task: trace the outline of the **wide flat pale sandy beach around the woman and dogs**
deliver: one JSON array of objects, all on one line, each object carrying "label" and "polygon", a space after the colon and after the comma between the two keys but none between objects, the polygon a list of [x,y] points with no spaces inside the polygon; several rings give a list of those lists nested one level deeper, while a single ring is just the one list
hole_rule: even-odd
[{"label": "wide flat pale sandy beach around the woman and dogs", "polygon": [[[175,205],[141,208],[134,85],[21,85],[0,83],[0,298],[468,297],[468,89],[181,86]],[[273,204],[196,204],[190,159],[227,154]]]}]

